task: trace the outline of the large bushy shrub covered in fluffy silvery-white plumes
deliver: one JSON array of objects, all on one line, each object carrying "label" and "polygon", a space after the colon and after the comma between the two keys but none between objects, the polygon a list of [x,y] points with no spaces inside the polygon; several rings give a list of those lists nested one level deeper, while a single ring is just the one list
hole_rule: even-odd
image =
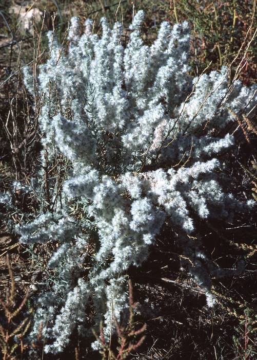
[{"label": "large bushy shrub covered in fluffy silvery-white plumes", "polygon": [[[110,29],[102,19],[98,37],[87,20],[80,35],[72,18],[68,50],[50,32],[49,60],[37,72],[25,69],[26,86],[42,106],[44,149],[38,179],[23,189],[45,200],[16,231],[26,244],[58,244],[49,260],[52,287],[38,298],[31,333],[36,337],[43,323],[46,352],[63,351],[75,329],[91,336],[103,318],[110,335],[112,318],[128,307],[126,271],[147,259],[164,224],[212,307],[211,277],[227,272],[204,254],[199,219],[231,221],[254,205],[229,192],[219,157],[233,146],[227,129],[235,116],[251,121],[256,114],[257,86],[229,83],[226,67],[192,78],[188,23],[163,22],[146,46],[143,20],[137,12],[124,46],[121,24]],[[57,181],[50,164],[62,165]]]}]

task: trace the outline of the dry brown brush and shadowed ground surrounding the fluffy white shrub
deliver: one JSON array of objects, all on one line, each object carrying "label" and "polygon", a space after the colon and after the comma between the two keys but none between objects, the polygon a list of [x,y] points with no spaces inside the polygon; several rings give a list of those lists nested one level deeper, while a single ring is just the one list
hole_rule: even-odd
[{"label": "dry brown brush and shadowed ground surrounding the fluffy white shrub", "polygon": [[[9,189],[15,180],[30,181],[36,173],[40,150],[37,131],[39,109],[34,109],[33,101],[26,92],[21,69],[25,64],[35,66],[47,59],[46,32],[54,26],[58,38],[65,40],[69,19],[74,15],[80,16],[82,21],[91,17],[97,32],[100,31],[98,24],[101,17],[106,16],[111,24],[116,20],[124,24],[126,42],[126,28],[133,13],[139,9],[146,12],[144,38],[147,43],[156,37],[163,20],[171,24],[182,20],[190,22],[192,75],[201,74],[206,68],[208,72],[230,65],[231,77],[238,74],[246,85],[256,81],[256,11],[255,2],[251,0],[220,0],[214,3],[209,0],[2,0],[0,190]],[[245,119],[238,119],[236,125],[237,152],[227,172],[238,197],[253,196],[257,200],[257,125]],[[28,344],[26,334],[33,313],[33,299],[51,276],[46,265],[52,249],[51,245],[25,248],[19,244],[10,220],[21,222],[23,214],[27,213],[29,217],[36,205],[33,197],[26,198],[19,192],[15,196],[16,211],[5,209],[0,235],[2,356],[26,359],[29,358],[29,347],[34,347],[42,358],[50,359],[50,355],[43,355],[42,335],[39,333],[38,338]],[[83,210],[72,211],[80,215]],[[140,271],[131,269],[128,274],[134,284],[134,298],[141,304],[141,315],[131,316],[128,325],[117,324],[120,332],[111,345],[103,346],[102,354],[92,353],[88,344],[74,336],[67,352],[54,358],[256,358],[256,230],[254,213],[250,219],[242,214],[235,224],[210,224],[209,228],[203,229],[202,236],[206,237],[205,243],[217,264],[234,268],[238,261],[243,259],[246,262],[243,275],[222,282],[213,279],[213,291],[218,300],[214,310],[206,308],[201,289],[180,271],[181,255],[170,252],[165,245],[168,241],[159,240],[154,255]],[[162,237],[168,237],[165,229]],[[137,329],[144,331],[135,335]],[[130,348],[129,345],[124,346],[124,338],[129,337],[128,334],[137,336],[136,340],[131,340],[133,346]],[[146,336],[141,341],[143,344],[139,344],[143,335]],[[116,350],[117,346],[119,349],[124,346],[129,351],[122,354],[121,350]]]}]

